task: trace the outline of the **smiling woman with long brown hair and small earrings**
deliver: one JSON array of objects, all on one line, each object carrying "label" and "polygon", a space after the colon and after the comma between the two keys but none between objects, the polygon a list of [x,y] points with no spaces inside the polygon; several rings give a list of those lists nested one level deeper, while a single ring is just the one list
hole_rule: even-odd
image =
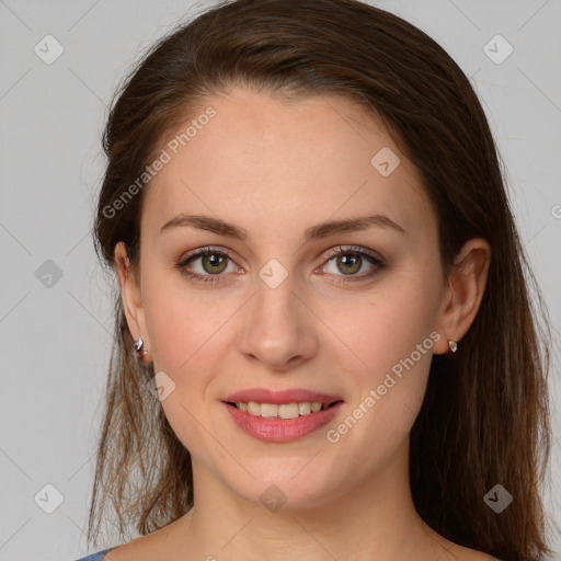
[{"label": "smiling woman with long brown hair and small earrings", "polygon": [[550,334],[442,47],[355,0],[222,3],[139,64],[104,148],[89,538],[107,501],[141,536],[89,559],[549,552]]}]

